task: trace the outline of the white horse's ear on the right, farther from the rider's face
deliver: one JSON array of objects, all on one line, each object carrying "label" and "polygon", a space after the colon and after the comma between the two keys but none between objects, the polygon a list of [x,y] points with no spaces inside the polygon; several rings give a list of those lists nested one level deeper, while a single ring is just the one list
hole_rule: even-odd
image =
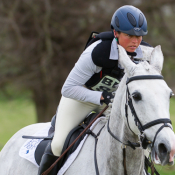
[{"label": "white horse's ear on the right, farther from the rider's face", "polygon": [[154,50],[151,53],[150,64],[154,66],[161,73],[163,68],[163,60],[164,58],[161,46],[158,45],[154,48]]}]

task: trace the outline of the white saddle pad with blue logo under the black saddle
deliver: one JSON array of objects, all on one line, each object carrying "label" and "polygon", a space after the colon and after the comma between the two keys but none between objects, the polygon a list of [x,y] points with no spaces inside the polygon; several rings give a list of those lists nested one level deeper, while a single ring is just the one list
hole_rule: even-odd
[{"label": "white saddle pad with blue logo under the black saddle", "polygon": [[[93,130],[93,128],[98,124],[98,122],[101,119],[104,119],[105,117],[100,117],[98,118],[90,127],[90,129]],[[40,130],[39,132],[35,133],[34,136],[47,136],[48,134],[48,130],[50,129],[50,123],[48,123],[48,125],[43,128],[42,130]],[[62,166],[62,168],[59,170],[57,175],[63,175],[66,170],[70,167],[70,165],[73,163],[73,161],[76,159],[76,157],[78,156],[84,142],[86,141],[86,138],[88,137],[88,135],[86,135],[84,137],[84,139],[80,142],[80,144],[78,145],[77,149],[69,156],[69,158],[67,159],[67,161],[65,162],[65,164]],[[36,147],[38,146],[38,144],[42,141],[43,139],[28,139],[23,146],[21,147],[20,151],[19,151],[19,155],[24,158],[27,159],[28,161],[30,161],[31,163],[33,163],[34,165],[36,165],[37,167],[38,164],[35,161],[35,150]]]}]

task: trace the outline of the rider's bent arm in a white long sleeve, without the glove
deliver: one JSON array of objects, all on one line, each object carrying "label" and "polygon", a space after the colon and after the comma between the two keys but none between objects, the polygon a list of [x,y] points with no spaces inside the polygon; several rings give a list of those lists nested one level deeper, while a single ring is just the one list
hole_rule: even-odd
[{"label": "rider's bent arm in a white long sleeve, without the glove", "polygon": [[92,75],[102,69],[96,66],[91,58],[93,48],[100,42],[101,40],[96,41],[81,54],[63,85],[62,95],[64,97],[101,105],[102,92],[92,91],[84,87]]}]

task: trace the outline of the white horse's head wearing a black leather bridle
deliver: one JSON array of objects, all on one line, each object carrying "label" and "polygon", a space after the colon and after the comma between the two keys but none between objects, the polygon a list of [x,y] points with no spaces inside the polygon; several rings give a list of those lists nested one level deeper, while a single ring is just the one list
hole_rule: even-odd
[{"label": "white horse's head wearing a black leather bridle", "polygon": [[[125,69],[125,76],[119,89],[125,87],[122,104],[127,101],[130,129],[137,135],[141,133],[142,137],[145,136],[147,142],[151,141],[151,155],[154,162],[172,165],[175,154],[175,134],[169,119],[169,103],[173,92],[160,75],[163,67],[160,46],[153,49],[149,63],[143,61],[137,65],[119,46],[119,63]],[[123,105],[123,116],[126,116],[125,109]]]}]

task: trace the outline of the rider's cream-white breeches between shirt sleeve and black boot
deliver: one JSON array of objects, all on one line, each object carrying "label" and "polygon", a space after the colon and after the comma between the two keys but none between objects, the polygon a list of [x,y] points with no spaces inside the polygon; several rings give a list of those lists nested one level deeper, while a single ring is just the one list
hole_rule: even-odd
[{"label": "rider's cream-white breeches between shirt sleeve and black boot", "polygon": [[78,126],[91,111],[101,112],[105,106],[105,104],[99,106],[62,96],[56,116],[55,134],[51,143],[53,154],[60,156],[69,132]]}]

